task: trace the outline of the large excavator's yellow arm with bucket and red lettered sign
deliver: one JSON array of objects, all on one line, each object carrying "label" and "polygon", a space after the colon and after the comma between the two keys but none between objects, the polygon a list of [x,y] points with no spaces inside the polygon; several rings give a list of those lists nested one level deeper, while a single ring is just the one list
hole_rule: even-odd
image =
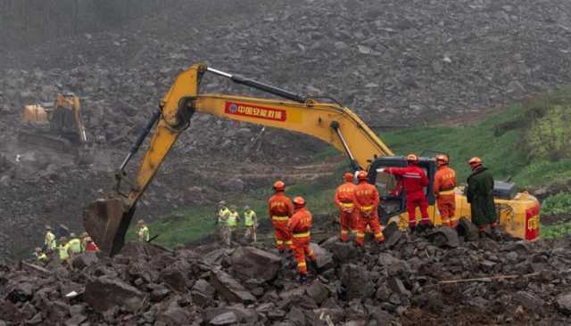
[{"label": "large excavator's yellow arm with bucket and red lettered sign", "polygon": [[[251,86],[285,100],[199,94],[200,81],[206,72],[228,77],[237,84]],[[377,157],[393,155],[357,115],[339,104],[316,102],[275,86],[233,76],[204,64],[194,64],[178,75],[161,100],[160,110],[153,114],[128,152],[117,174],[116,193],[110,198],[96,200],[84,213],[87,232],[104,252],[110,255],[119,252],[137,200],[153,180],[178,136],[190,125],[190,118],[195,112],[308,134],[343,151],[354,169],[367,168]],[[155,124],[156,131],[139,167],[137,179],[128,182],[124,169]],[[120,192],[122,181],[131,184],[130,192]]]}]

